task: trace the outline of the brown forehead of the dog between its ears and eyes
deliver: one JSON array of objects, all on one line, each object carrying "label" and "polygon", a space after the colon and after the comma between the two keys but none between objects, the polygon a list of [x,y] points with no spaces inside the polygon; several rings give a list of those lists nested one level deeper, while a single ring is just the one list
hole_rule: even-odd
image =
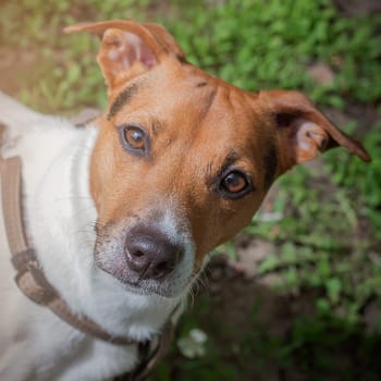
[{"label": "brown forehead of the dog between its ears and eyes", "polygon": [[189,170],[197,164],[218,172],[234,157],[241,168],[263,177],[261,183],[273,180],[276,162],[269,165],[268,158],[274,157],[274,143],[256,115],[255,96],[198,67],[152,70],[126,84],[114,95],[108,119],[116,127],[145,127],[151,157],[170,158],[165,162],[172,168],[188,161]]}]

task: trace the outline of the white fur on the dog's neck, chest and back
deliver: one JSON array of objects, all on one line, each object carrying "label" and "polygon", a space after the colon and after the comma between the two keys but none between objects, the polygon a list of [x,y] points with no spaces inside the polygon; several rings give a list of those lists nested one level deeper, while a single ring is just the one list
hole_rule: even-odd
[{"label": "white fur on the dog's neck, chest and back", "polygon": [[[96,126],[76,128],[2,93],[0,122],[8,126],[2,155],[22,157],[26,232],[51,284],[73,311],[112,334],[143,340],[160,332],[187,290],[173,298],[135,294],[94,263],[97,213],[88,177]],[[176,231],[173,220],[173,216],[162,219],[162,229],[171,236]],[[16,287],[1,245],[0,380],[103,380],[135,366],[136,345],[118,346],[86,336],[29,302]],[[188,268],[193,244],[185,246]]]}]

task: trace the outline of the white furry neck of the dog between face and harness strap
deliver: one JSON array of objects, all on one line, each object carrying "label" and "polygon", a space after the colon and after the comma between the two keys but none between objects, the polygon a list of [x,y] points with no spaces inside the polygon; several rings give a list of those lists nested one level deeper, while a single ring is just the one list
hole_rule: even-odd
[{"label": "white furry neck of the dog between face and harness strap", "polygon": [[49,158],[27,196],[32,245],[46,276],[75,312],[112,334],[145,340],[160,331],[181,297],[134,294],[95,266],[97,212],[89,193],[89,160],[97,131],[73,131]]}]

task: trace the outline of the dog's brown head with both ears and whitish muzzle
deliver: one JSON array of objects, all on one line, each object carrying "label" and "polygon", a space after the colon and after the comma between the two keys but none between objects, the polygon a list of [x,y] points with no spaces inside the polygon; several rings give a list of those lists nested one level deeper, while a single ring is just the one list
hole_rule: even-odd
[{"label": "dog's brown head with both ears and whitish muzzle", "polygon": [[138,293],[187,290],[217,245],[250,222],[272,182],[319,150],[359,144],[302,94],[250,94],[188,64],[163,28],[106,22],[109,90],[93,152],[97,265]]}]

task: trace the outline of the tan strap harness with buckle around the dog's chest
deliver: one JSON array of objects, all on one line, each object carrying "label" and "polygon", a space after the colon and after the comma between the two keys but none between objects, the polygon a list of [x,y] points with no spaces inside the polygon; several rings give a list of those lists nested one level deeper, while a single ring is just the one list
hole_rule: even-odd
[{"label": "tan strap harness with buckle around the dog's chest", "polygon": [[[0,124],[0,148],[3,133],[4,126]],[[168,319],[161,335],[155,340],[157,343],[151,341],[139,342],[125,336],[111,335],[89,318],[73,314],[65,300],[60,297],[57,290],[46,279],[34,249],[27,243],[23,225],[22,161],[20,157],[4,159],[0,152],[0,207],[2,205],[7,234],[5,245],[8,241],[11,261],[16,270],[15,282],[19,288],[30,300],[48,307],[67,324],[87,335],[114,345],[137,345],[139,365],[134,371],[118,377],[116,380],[145,380],[164,356],[171,343],[174,332],[171,318],[176,309]]]}]

